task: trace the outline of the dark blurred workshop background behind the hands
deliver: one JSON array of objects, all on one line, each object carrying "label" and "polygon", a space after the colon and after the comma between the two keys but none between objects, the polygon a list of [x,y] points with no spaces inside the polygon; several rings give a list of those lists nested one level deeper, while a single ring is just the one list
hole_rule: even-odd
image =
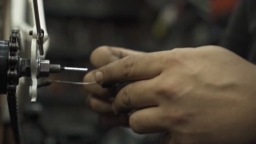
[{"label": "dark blurred workshop background behind the hands", "polygon": [[[4,10],[4,1],[0,8]],[[111,45],[146,52],[217,45],[236,0],[44,0],[50,37],[46,59],[94,69],[90,53]],[[0,13],[1,15],[2,13]],[[3,31],[0,19],[0,32]],[[1,35],[0,35],[1,37]],[[82,82],[85,73],[66,71],[54,80]],[[53,83],[26,105],[22,130],[27,143],[157,143],[160,134],[102,128],[86,108],[83,86]]]}]

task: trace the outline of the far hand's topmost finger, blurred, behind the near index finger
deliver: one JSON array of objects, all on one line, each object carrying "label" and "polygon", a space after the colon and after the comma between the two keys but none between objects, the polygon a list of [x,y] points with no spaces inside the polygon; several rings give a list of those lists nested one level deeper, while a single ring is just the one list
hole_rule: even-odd
[{"label": "far hand's topmost finger, blurred, behind the near index finger", "polygon": [[92,52],[90,60],[96,68],[100,68],[104,65],[107,65],[108,63],[139,53],[143,52],[133,51],[120,47],[101,46]]}]

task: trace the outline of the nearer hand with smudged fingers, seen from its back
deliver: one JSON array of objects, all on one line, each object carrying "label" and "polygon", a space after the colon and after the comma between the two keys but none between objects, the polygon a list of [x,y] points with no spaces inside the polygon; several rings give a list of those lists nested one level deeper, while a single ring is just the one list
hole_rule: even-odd
[{"label": "nearer hand with smudged fingers, seen from its back", "polygon": [[140,134],[166,132],[160,143],[255,140],[256,69],[228,50],[203,46],[142,53],[94,74],[101,85],[136,81],[121,89],[112,108],[137,110],[130,127]]}]

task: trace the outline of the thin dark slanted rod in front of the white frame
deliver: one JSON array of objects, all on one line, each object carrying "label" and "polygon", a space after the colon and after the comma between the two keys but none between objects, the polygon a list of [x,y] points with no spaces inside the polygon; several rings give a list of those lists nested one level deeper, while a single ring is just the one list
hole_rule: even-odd
[{"label": "thin dark slanted rod in front of the white frame", "polygon": [[37,43],[39,45],[39,53],[41,56],[44,55],[44,40],[43,40],[43,33],[40,25],[40,17],[39,17],[39,11],[38,11],[38,3],[37,0],[33,0],[33,5],[34,5],[34,17],[36,19],[36,26],[37,26]]}]

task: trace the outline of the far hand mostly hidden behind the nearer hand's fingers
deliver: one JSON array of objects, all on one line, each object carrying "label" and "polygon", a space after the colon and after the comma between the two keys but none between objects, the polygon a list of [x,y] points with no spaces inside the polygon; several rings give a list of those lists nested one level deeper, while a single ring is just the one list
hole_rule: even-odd
[{"label": "far hand mostly hidden behind the nearer hand's fingers", "polygon": [[[100,68],[121,58],[140,53],[143,52],[120,47],[101,46],[92,52],[90,61],[96,68]],[[94,73],[95,70],[86,74],[84,82],[95,82]],[[128,125],[127,113],[115,115],[112,110],[111,103],[115,94],[111,88],[102,88],[100,85],[85,85],[85,89],[89,92],[87,104],[92,111],[100,114],[99,121],[102,125],[106,127]]]}]

